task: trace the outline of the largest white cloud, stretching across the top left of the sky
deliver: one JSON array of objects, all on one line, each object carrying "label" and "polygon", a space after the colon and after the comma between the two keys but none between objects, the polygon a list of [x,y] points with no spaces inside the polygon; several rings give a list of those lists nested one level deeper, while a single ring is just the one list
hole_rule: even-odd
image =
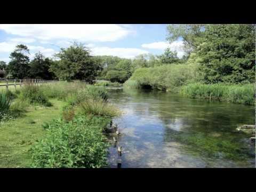
[{"label": "largest white cloud, stretching across the top left of the sky", "polygon": [[115,24],[1,24],[0,29],[41,41],[65,38],[82,42],[112,42],[133,32]]}]

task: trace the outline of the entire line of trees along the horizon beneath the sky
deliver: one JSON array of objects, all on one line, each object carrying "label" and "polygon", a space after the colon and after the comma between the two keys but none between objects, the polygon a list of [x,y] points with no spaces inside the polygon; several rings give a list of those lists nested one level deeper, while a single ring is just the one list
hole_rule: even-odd
[{"label": "entire line of trees along the horizon beneath the sky", "polygon": [[[17,45],[9,65],[0,61],[0,76],[93,82],[95,78],[123,83],[139,68],[197,64],[205,83],[255,81],[255,25],[167,25],[167,41],[183,41],[185,55],[167,48],[161,55],[141,54],[134,59],[93,56],[89,48],[74,42],[61,48],[56,59],[36,53],[29,60],[26,45]],[[4,70],[4,73],[3,73]]]}]

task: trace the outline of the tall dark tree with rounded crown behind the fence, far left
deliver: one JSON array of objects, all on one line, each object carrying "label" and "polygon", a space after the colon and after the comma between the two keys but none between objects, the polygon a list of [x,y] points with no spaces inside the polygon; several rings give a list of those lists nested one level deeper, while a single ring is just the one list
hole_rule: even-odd
[{"label": "tall dark tree with rounded crown behind the fence, far left", "polygon": [[29,71],[29,49],[26,45],[20,44],[11,53],[11,61],[6,68],[6,71],[13,76],[13,78],[28,77]]}]

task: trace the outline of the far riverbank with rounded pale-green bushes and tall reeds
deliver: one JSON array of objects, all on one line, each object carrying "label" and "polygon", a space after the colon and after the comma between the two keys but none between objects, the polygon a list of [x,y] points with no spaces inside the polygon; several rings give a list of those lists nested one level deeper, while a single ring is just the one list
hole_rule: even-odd
[{"label": "far riverbank with rounded pale-green bushes and tall reeds", "polygon": [[158,89],[190,98],[255,105],[254,84],[205,84],[196,65],[165,65],[141,68],[124,83],[125,89]]}]

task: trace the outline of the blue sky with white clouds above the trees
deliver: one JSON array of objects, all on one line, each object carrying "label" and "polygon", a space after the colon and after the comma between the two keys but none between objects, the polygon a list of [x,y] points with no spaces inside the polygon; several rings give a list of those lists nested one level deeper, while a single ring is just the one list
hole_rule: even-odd
[{"label": "blue sky with white clouds above the trees", "polygon": [[9,62],[18,44],[30,50],[30,59],[40,51],[53,57],[60,47],[76,41],[89,47],[92,55],[133,59],[139,54],[162,54],[167,47],[184,54],[182,41],[168,43],[164,24],[0,24],[0,61]]}]

